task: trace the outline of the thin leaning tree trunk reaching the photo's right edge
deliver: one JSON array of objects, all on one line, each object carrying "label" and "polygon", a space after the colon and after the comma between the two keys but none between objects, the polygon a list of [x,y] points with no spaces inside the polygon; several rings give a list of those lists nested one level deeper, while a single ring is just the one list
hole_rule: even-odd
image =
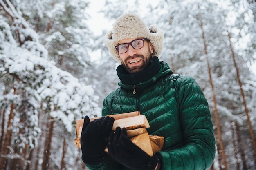
[{"label": "thin leaning tree trunk reaching the photo's right edge", "polygon": [[246,104],[246,100],[245,100],[245,94],[244,94],[244,91],[243,91],[242,82],[240,80],[239,69],[238,69],[238,66],[236,64],[235,53],[234,53],[234,50],[233,50],[233,47],[232,47],[232,43],[231,43],[231,35],[230,35],[229,32],[228,32],[228,36],[229,36],[229,43],[230,43],[229,47],[230,47],[230,50],[231,50],[231,53],[232,53],[232,58],[233,58],[234,66],[236,68],[236,76],[237,76],[237,79],[238,79],[238,84],[239,84],[239,87],[240,87],[240,92],[241,92],[241,95],[242,95],[242,98],[243,98],[243,104],[244,104],[244,107],[245,107],[245,114],[247,116],[247,123],[248,123],[248,126],[249,126],[249,133],[250,133],[250,136],[251,136],[252,147],[254,149],[254,157],[255,157],[254,163],[256,165],[256,142],[255,142],[255,139],[254,139],[254,132],[253,132],[250,116],[249,116],[249,110],[247,108],[247,104]]}]

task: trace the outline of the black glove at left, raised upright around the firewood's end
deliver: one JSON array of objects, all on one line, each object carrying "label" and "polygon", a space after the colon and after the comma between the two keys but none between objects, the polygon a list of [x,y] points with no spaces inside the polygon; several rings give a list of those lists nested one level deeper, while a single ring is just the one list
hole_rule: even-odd
[{"label": "black glove at left, raised upright around the firewood's end", "polygon": [[104,149],[112,130],[114,118],[101,117],[90,122],[85,116],[81,134],[82,160],[88,165],[99,165],[105,159]]}]

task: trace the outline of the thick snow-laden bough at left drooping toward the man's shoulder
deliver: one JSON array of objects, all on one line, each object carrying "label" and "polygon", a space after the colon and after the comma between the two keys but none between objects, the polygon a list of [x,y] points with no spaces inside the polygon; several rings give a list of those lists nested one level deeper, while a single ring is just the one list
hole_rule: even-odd
[{"label": "thick snow-laden bough at left drooping toward the man's shoulder", "polygon": [[70,73],[57,68],[54,62],[40,57],[37,52],[45,49],[38,42],[30,42],[31,51],[8,41],[13,40],[8,26],[2,27],[0,36],[4,36],[4,45],[0,46],[0,75],[15,78],[28,94],[33,94],[27,98],[37,102],[31,103],[35,110],[43,109],[51,117],[63,121],[67,131],[72,131],[75,119],[100,115],[98,97],[94,96],[92,86],[79,82]]}]

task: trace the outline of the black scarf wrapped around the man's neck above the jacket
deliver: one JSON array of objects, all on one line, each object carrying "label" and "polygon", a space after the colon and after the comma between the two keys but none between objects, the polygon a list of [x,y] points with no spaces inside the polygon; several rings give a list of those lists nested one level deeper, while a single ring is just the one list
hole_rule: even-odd
[{"label": "black scarf wrapped around the man's neck above the jacket", "polygon": [[119,65],[117,67],[117,75],[123,84],[135,85],[151,79],[159,72],[160,68],[158,57],[153,57],[149,66],[138,73],[129,74],[123,65]]}]

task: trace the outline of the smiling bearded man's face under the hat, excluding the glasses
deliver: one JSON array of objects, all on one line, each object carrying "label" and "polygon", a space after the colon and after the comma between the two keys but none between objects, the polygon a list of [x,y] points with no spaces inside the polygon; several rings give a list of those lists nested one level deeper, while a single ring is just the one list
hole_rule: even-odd
[{"label": "smiling bearded man's face under the hat, excluding the glasses", "polygon": [[[120,40],[119,44],[129,43],[139,38],[127,38]],[[134,49],[129,45],[126,53],[119,53],[121,64],[128,73],[137,73],[148,67],[154,48],[150,42],[144,40],[144,46],[141,49]]]}]

